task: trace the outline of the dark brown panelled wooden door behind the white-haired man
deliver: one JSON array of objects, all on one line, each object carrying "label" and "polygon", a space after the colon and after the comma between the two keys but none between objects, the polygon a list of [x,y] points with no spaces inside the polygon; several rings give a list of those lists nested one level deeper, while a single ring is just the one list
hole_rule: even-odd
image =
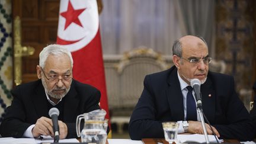
[{"label": "dark brown panelled wooden door behind the white-haired man", "polygon": [[17,16],[21,20],[21,45],[35,49],[33,55],[22,58],[22,83],[34,81],[39,53],[56,43],[59,0],[13,0],[12,14],[13,20]]}]

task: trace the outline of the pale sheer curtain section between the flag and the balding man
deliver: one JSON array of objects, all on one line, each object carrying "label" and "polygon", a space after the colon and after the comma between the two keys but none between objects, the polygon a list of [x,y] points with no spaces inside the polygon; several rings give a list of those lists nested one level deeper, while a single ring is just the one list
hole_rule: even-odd
[{"label": "pale sheer curtain section between the flag and the balding man", "polygon": [[165,55],[181,37],[173,1],[103,0],[100,14],[104,54],[122,54],[146,46]]}]

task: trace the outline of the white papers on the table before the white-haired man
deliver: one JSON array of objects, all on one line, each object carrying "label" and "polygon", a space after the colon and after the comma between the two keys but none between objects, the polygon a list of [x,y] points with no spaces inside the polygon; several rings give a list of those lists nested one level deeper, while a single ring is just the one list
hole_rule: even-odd
[{"label": "white papers on the table before the white-haired man", "polygon": [[[43,139],[34,139],[34,138],[14,138],[14,137],[3,137],[0,138],[0,143],[6,143],[6,144],[37,144],[37,143],[44,143],[49,142],[53,143],[52,137],[45,137],[43,136]],[[77,139],[60,139],[60,143],[79,143]]]}]

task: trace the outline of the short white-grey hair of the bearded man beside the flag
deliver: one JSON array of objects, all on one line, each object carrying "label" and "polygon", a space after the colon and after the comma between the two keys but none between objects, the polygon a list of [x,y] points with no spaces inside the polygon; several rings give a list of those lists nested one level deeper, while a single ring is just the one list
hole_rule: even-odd
[{"label": "short white-grey hair of the bearded man beside the flag", "polygon": [[73,59],[71,52],[69,52],[66,47],[60,46],[59,44],[50,44],[49,46],[44,47],[44,49],[39,54],[39,66],[44,68],[46,59],[49,55],[68,55],[71,60],[71,67],[73,68]]}]

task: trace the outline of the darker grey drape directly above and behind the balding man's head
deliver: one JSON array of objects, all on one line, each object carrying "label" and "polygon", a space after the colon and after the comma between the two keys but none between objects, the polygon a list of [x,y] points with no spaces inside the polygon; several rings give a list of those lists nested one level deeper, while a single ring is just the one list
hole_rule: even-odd
[{"label": "darker grey drape directly above and behind the balding man's head", "polygon": [[215,1],[173,0],[178,21],[184,35],[201,36],[206,40],[209,54],[215,57]]}]

